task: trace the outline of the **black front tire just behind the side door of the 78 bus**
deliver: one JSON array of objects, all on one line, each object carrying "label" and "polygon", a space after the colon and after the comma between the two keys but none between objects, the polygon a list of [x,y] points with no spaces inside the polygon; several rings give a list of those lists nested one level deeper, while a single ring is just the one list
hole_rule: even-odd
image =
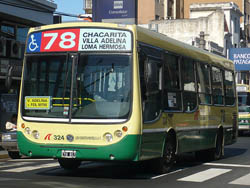
[{"label": "black front tire just behind the side door of the 78 bus", "polygon": [[153,172],[157,174],[164,174],[169,172],[175,163],[176,143],[173,136],[168,136],[164,146],[163,157],[152,160]]}]

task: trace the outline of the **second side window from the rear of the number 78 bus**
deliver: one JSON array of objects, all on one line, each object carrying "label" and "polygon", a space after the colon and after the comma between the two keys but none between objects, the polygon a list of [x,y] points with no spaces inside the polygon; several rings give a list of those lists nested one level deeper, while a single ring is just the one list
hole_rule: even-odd
[{"label": "second side window from the rear of the number 78 bus", "polygon": [[213,90],[213,103],[223,105],[223,79],[222,71],[217,67],[212,67],[212,90]]}]

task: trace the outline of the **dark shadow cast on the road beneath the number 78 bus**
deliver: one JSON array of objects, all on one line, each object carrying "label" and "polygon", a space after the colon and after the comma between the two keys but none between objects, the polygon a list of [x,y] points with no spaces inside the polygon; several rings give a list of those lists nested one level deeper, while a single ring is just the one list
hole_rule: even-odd
[{"label": "dark shadow cast on the road beneath the number 78 bus", "polygon": [[[243,155],[247,149],[241,148],[225,148],[224,158],[218,160],[221,163],[224,159],[230,159]],[[214,161],[216,162],[216,161]],[[201,165],[202,162],[197,161],[194,153],[186,153],[177,157],[176,164],[168,174],[172,174],[183,169]],[[38,172],[39,175],[56,176],[56,177],[85,177],[85,178],[107,178],[107,179],[152,179],[160,174],[151,173],[145,163],[109,163],[109,162],[82,162],[77,170],[64,170],[62,168],[54,168],[46,171]]]}]

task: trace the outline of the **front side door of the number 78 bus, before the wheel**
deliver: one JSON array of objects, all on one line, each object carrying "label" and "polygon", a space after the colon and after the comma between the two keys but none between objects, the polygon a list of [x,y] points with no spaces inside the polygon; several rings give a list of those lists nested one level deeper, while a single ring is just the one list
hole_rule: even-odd
[{"label": "front side door of the number 78 bus, before the wheel", "polygon": [[165,127],[162,118],[162,62],[148,56],[140,58],[141,101],[143,115],[142,159],[160,157]]}]

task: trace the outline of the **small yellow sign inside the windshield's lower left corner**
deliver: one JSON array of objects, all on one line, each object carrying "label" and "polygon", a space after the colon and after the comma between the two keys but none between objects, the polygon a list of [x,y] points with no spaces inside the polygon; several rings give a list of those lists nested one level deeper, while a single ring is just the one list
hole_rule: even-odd
[{"label": "small yellow sign inside the windshield's lower left corner", "polygon": [[26,110],[49,110],[50,96],[26,96],[25,109]]}]

